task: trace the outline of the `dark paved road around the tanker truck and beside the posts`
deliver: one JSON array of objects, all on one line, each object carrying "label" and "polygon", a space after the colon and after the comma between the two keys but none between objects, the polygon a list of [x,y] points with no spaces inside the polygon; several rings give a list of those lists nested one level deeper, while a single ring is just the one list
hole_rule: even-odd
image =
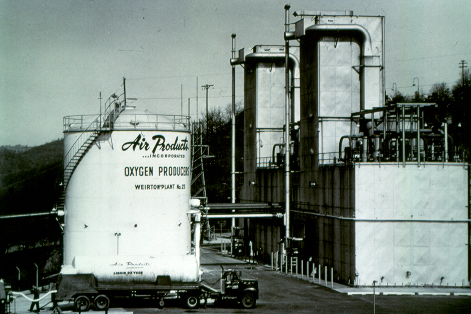
[{"label": "dark paved road around the tanker truck and beside the posts", "polygon": [[[253,310],[243,310],[233,304],[224,307],[214,307],[212,304],[203,309],[186,310],[181,308],[178,300],[166,301],[163,309],[158,309],[156,304],[142,300],[116,304],[109,309],[110,314],[154,314],[154,313],[348,313],[365,314],[373,313],[373,306],[377,314],[470,314],[470,296],[396,296],[377,295],[373,304],[373,295],[348,295],[331,290],[322,285],[313,284],[306,280],[297,279],[286,274],[271,271],[262,265],[251,265],[241,261],[217,254],[205,249],[202,252],[203,279],[217,286],[217,280],[221,271],[217,263],[222,263],[225,268],[233,268],[242,271],[245,278],[257,278],[259,280],[260,299]],[[348,289],[345,287],[345,289]],[[365,288],[349,288],[350,292],[365,292]],[[338,290],[338,289],[337,289]],[[406,291],[406,290],[402,290]],[[430,290],[436,291],[436,290]],[[462,291],[469,292],[470,289]],[[21,300],[22,299],[22,300]],[[46,302],[41,302],[42,306]],[[17,313],[27,314],[30,302],[24,298],[17,299]],[[62,309],[66,313],[72,311],[71,305],[63,304]],[[12,304],[12,313],[13,313]],[[94,312],[94,311],[89,311]],[[42,314],[51,314],[51,309],[46,306]],[[103,313],[103,312],[102,312]]]}]

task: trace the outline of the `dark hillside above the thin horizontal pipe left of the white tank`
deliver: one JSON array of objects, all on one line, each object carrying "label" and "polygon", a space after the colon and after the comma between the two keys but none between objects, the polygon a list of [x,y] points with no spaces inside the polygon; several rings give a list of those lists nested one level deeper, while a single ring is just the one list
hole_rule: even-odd
[{"label": "dark hillside above the thin horizontal pipe left of the white tank", "polygon": [[0,215],[49,211],[60,192],[63,140],[0,147]]}]

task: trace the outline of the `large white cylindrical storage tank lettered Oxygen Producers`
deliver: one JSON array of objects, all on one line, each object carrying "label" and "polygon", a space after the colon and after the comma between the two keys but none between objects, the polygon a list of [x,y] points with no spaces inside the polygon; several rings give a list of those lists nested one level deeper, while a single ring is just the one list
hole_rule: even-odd
[{"label": "large white cylindrical storage tank lettered Oxygen Producers", "polygon": [[[119,110],[97,123],[102,129],[87,150],[74,154],[79,162],[66,190],[64,265],[76,256],[177,261],[191,252],[189,120]],[[86,120],[67,119],[75,122],[64,131],[66,153],[84,142]]]}]

